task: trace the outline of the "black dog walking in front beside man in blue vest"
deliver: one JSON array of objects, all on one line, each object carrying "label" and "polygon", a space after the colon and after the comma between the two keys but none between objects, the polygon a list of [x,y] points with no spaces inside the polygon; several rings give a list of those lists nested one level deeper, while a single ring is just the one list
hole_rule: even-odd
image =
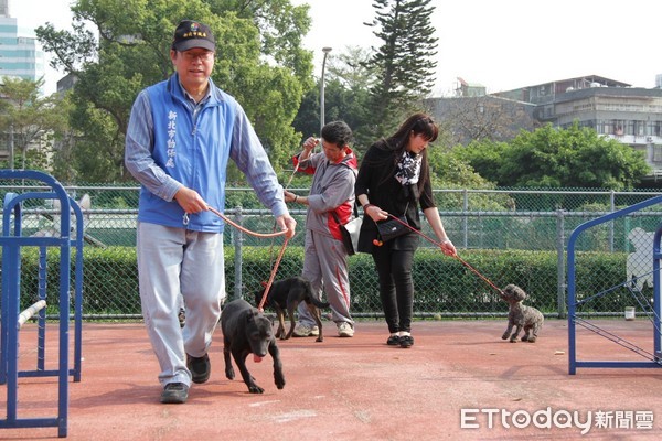
[{"label": "black dog walking in front beside man in blue vest", "polygon": [[274,383],[279,389],[285,387],[280,353],[271,331],[271,321],[268,318],[247,301],[237,299],[223,306],[221,329],[223,330],[223,357],[225,358],[227,379],[235,377],[229,359],[232,354],[244,383],[248,386],[248,391],[250,394],[264,392],[265,389],[255,384],[255,378],[246,368],[246,357],[248,354],[253,354],[254,362],[259,363],[268,352],[274,359]]}]

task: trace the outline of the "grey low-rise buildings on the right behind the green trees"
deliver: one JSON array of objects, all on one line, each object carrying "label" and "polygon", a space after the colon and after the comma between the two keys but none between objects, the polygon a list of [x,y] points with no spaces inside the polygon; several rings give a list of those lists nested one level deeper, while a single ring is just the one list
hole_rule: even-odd
[{"label": "grey low-rise buildings on the right behind the green trees", "polygon": [[[648,89],[587,75],[480,96],[480,88],[461,80],[456,97],[430,98],[426,104],[451,133],[459,133],[459,142],[467,141],[467,137],[476,139],[467,128],[487,126],[485,120],[494,122],[495,116],[501,122],[493,127],[503,127],[505,121],[509,128],[492,135],[496,140],[516,135],[520,128],[532,130],[545,123],[566,128],[578,121],[581,127],[644,152],[653,169],[648,181],[656,182],[662,180],[662,75],[656,76],[655,84]],[[488,110],[489,119],[483,115]]]}]

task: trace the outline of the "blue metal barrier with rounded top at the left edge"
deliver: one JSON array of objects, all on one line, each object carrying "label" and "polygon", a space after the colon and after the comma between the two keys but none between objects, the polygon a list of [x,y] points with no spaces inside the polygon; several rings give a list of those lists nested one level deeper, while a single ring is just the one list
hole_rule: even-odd
[{"label": "blue metal barrier with rounded top at the left edge", "polygon": [[[31,170],[0,170],[3,180],[36,180],[49,185],[51,192],[8,193],[3,201],[2,236],[2,301],[0,330],[0,384],[7,385],[7,418],[0,420],[0,429],[57,427],[57,435],[67,434],[68,377],[81,380],[82,319],[83,319],[83,214],[77,203],[70,198],[64,187],[53,176]],[[60,235],[54,237],[30,237],[22,235],[23,201],[57,200],[60,202]],[[71,212],[76,217],[75,236],[71,237]],[[12,222],[13,215],[13,222]],[[13,228],[12,228],[13,227]],[[71,247],[76,249],[74,272],[74,357],[70,369],[70,287]],[[21,248],[39,247],[38,300],[46,300],[46,250],[60,249],[60,298],[58,298],[58,361],[56,369],[45,368],[45,310],[38,312],[38,359],[34,370],[19,370],[19,309],[21,304]],[[18,416],[18,378],[57,376],[57,416],[44,418],[20,418]]]}]

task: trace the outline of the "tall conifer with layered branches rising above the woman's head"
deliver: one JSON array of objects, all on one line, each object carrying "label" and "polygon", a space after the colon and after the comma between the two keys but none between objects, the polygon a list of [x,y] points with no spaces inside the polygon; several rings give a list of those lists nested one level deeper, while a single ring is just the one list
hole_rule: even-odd
[{"label": "tall conifer with layered branches rising above the woman's head", "polygon": [[369,64],[377,72],[370,87],[372,131],[389,133],[420,106],[434,85],[437,39],[431,0],[373,0],[374,34],[382,40]]}]

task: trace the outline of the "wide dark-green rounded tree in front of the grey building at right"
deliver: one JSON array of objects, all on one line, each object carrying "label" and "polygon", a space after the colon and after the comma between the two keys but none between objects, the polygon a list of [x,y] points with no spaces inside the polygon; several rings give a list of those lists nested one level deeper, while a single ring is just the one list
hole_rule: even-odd
[{"label": "wide dark-green rounded tree in front of the grey building at right", "polygon": [[511,142],[474,142],[453,154],[500,186],[633,189],[650,174],[642,152],[595,130],[546,125]]}]

